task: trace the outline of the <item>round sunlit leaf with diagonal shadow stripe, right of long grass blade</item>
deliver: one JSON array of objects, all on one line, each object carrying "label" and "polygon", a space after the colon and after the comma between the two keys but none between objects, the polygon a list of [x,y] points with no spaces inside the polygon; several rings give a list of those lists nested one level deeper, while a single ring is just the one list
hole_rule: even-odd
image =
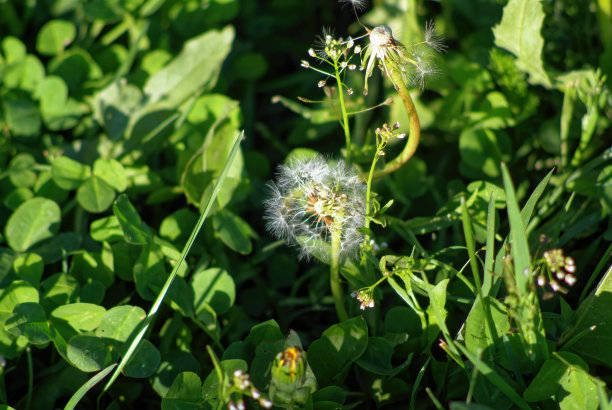
[{"label": "round sunlit leaf with diagonal shadow stripe, right of long grass blade", "polygon": [[212,307],[217,315],[229,310],[236,300],[234,279],[224,270],[210,268],[197,272],[191,280],[191,288],[195,296],[194,308],[196,314],[202,303]]}]

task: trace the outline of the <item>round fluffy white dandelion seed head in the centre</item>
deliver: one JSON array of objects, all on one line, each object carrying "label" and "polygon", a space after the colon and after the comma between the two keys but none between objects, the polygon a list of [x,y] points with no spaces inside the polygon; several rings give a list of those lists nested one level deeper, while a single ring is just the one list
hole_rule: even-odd
[{"label": "round fluffy white dandelion seed head in the centre", "polygon": [[300,247],[300,256],[331,260],[331,238],[340,238],[340,257],[355,255],[365,222],[363,179],[344,161],[321,156],[281,165],[265,201],[268,230]]}]

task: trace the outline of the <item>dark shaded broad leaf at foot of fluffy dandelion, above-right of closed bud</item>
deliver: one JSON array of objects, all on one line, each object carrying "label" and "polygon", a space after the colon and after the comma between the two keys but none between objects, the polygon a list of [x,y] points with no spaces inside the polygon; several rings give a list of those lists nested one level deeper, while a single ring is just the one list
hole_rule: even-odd
[{"label": "dark shaded broad leaf at foot of fluffy dandelion, above-right of closed bud", "polygon": [[368,328],[359,316],[335,324],[323,332],[308,349],[308,360],[318,383],[342,383],[350,365],[365,352]]}]

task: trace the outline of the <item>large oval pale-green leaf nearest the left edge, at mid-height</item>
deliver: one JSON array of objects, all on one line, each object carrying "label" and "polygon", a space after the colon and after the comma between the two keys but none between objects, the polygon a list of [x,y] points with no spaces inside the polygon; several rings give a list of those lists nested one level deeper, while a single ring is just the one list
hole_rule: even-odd
[{"label": "large oval pale-green leaf nearest the left edge, at mid-height", "polygon": [[4,231],[6,240],[11,248],[24,252],[56,234],[60,221],[61,211],[55,202],[32,198],[10,216]]}]

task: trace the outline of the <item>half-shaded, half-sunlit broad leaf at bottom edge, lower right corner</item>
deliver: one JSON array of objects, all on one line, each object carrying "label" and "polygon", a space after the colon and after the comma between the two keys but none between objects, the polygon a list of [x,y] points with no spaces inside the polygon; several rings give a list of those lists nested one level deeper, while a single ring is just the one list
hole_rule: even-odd
[{"label": "half-shaded, half-sunlit broad leaf at bottom edge, lower right corner", "polygon": [[588,366],[573,353],[559,352],[544,362],[523,394],[529,402],[553,398],[562,410],[598,408],[596,379]]}]

